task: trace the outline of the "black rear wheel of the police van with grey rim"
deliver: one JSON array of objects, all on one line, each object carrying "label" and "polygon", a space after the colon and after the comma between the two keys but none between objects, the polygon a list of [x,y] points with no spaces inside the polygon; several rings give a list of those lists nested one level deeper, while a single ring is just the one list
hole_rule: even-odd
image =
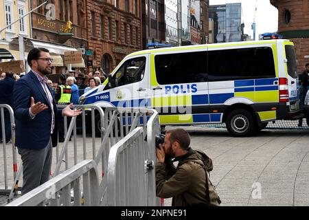
[{"label": "black rear wheel of the police van with grey rim", "polygon": [[253,115],[244,109],[233,110],[227,115],[227,131],[235,137],[249,136],[256,128]]}]

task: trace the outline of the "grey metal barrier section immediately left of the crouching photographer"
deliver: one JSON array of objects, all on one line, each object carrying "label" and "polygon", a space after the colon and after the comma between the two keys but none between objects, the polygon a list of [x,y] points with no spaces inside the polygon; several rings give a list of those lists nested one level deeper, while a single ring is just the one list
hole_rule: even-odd
[{"label": "grey metal barrier section immediately left of the crouching photographer", "polygon": [[108,206],[147,204],[148,187],[145,175],[152,172],[153,164],[147,166],[144,157],[145,145],[144,132],[139,127],[111,148],[107,172]]}]

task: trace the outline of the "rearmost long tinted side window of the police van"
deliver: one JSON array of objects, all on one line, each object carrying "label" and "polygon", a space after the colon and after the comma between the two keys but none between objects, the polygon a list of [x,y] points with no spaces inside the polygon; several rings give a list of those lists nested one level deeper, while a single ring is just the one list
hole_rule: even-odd
[{"label": "rearmost long tinted side window of the police van", "polygon": [[270,47],[254,47],[208,52],[209,81],[275,78]]}]

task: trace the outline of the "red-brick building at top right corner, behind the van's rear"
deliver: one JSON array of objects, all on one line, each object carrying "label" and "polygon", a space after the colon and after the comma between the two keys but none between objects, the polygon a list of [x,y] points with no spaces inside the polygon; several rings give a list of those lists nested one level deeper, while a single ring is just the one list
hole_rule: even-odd
[{"label": "red-brick building at top right corner, behind the van's rear", "polygon": [[278,32],[295,44],[297,72],[309,63],[309,3],[308,0],[270,0],[278,9]]}]

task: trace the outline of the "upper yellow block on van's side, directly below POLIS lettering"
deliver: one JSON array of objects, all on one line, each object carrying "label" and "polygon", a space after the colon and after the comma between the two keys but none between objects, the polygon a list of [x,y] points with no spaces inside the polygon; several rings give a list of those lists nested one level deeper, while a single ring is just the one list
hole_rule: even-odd
[{"label": "upper yellow block on van's side, directly below POLIS lettering", "polygon": [[165,96],[152,98],[152,107],[192,106],[192,96]]}]

